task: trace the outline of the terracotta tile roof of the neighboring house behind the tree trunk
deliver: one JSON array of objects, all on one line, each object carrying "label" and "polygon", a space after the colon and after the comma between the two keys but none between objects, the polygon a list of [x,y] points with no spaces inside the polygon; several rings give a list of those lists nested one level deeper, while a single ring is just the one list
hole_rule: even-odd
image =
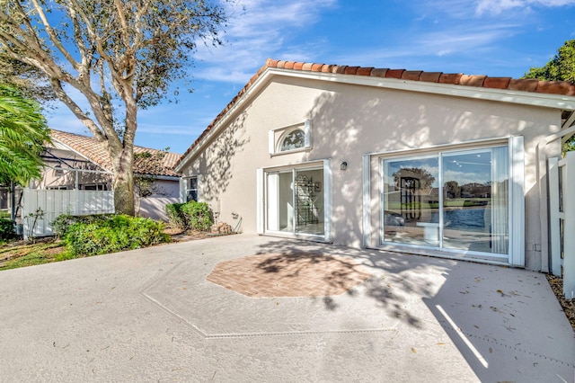
[{"label": "terracotta tile roof of the neighboring house behind the tree trunk", "polygon": [[[57,139],[67,147],[71,147],[77,153],[87,157],[94,164],[101,166],[103,169],[111,171],[110,156],[96,138],[82,136],[79,134],[68,133],[66,131],[50,129],[50,136]],[[164,152],[163,150],[152,149],[148,147],[134,147],[134,154],[148,152],[152,155],[165,153],[161,164],[154,161],[146,161],[146,158],[137,158],[134,161],[134,173],[149,175],[169,175],[178,176],[173,171],[175,165],[180,161],[181,155],[177,153]]]}]

